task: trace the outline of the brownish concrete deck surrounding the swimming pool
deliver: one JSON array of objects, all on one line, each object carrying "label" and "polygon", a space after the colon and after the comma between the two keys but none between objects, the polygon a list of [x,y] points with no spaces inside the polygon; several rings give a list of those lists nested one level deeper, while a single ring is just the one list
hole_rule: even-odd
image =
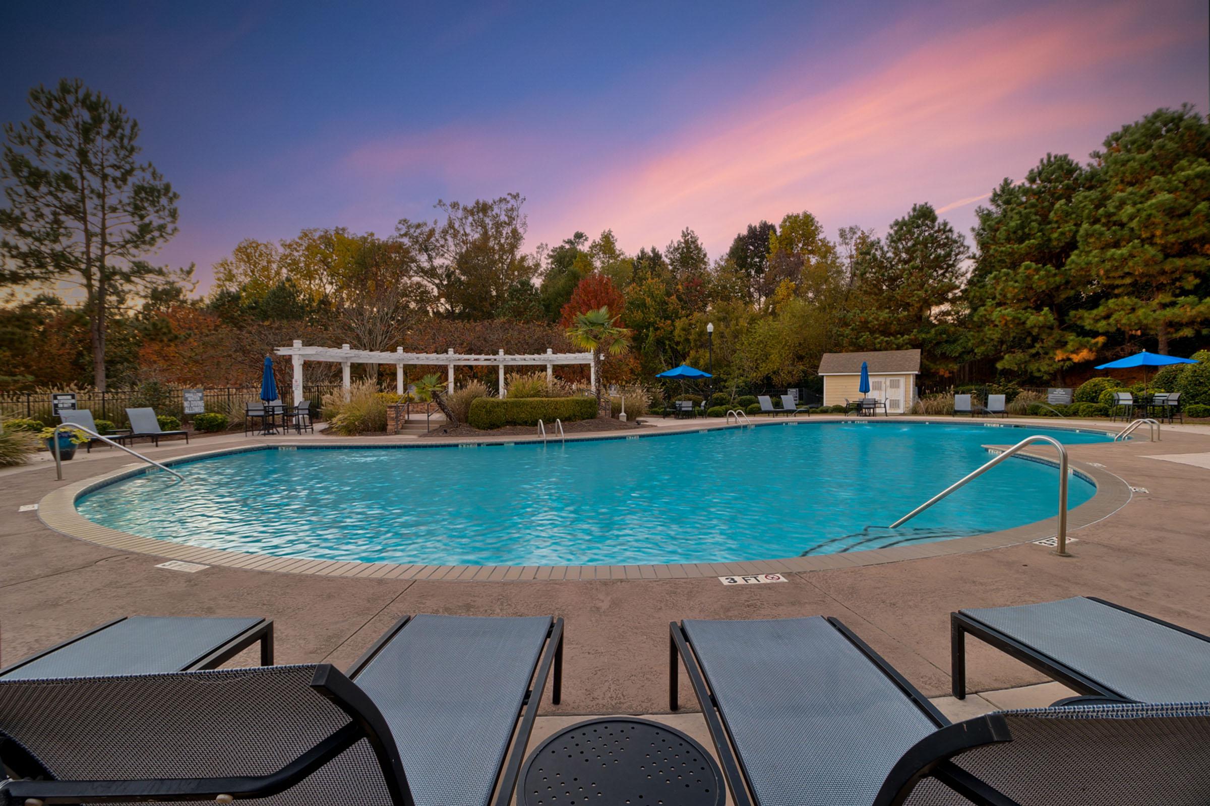
[{"label": "brownish concrete deck surrounding the swimming pool", "polygon": [[[1056,425],[1054,421],[1020,422]],[[656,425],[695,427],[698,424],[684,421]],[[146,452],[160,460],[266,439],[207,437],[188,447],[163,442]],[[304,439],[328,445],[338,441],[322,435]],[[402,442],[415,437],[359,441],[388,439]],[[564,702],[558,707],[547,702],[542,713],[563,719],[571,714],[666,713],[668,622],[684,617],[839,616],[930,697],[949,692],[949,613],[958,608],[1088,595],[1210,632],[1210,586],[1205,584],[1210,574],[1210,470],[1199,464],[1205,458],[1199,454],[1210,453],[1210,428],[1165,425],[1159,443],[1072,445],[1068,452],[1081,466],[1112,474],[1135,488],[1106,518],[1072,529],[1077,543],[1071,545],[1071,558],[1056,557],[1032,543],[983,550],[972,546],[880,564],[789,570],[783,584],[725,586],[715,575],[500,584],[305,575],[224,566],[197,573],[157,568],[163,556],[69,538],[42,523],[38,511],[18,511],[58,488],[129,464],[128,456],[99,448],[65,463],[63,482],[54,480],[53,464],[45,460],[0,472],[6,508],[0,522],[2,660],[17,660],[121,615],[263,615],[276,621],[278,662],[327,661],[345,667],[407,613],[555,614],[566,620]],[[976,692],[1043,682],[1037,672],[979,642],[969,642],[968,674]],[[997,696],[986,695],[985,704],[999,704]],[[980,707],[979,702],[970,698],[952,704],[969,709]]]}]

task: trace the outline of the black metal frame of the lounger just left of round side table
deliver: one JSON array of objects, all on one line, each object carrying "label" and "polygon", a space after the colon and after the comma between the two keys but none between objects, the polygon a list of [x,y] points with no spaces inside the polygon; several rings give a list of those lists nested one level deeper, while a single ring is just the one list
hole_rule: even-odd
[{"label": "black metal frame of the lounger just left of round side table", "polygon": [[[230,795],[236,801],[269,798],[300,783],[364,738],[374,749],[392,802],[415,806],[399,754],[394,749],[391,729],[374,701],[355,682],[411,619],[411,615],[403,616],[380,636],[353,663],[347,677],[327,663],[316,667],[311,686],[348,714],[352,721],[276,772],[255,777],[143,781],[10,781],[0,784],[0,804],[5,806],[23,804],[27,799],[38,799],[50,805],[132,800],[195,801],[215,800],[219,795]],[[535,671],[531,672],[530,688],[522,701],[518,724],[513,730],[511,753],[501,759],[501,766],[496,771],[496,806],[508,806],[512,802],[525,747],[534,730],[542,691],[552,677],[552,669],[554,679],[551,698],[558,704],[563,689],[563,619],[551,620],[546,644],[535,662]]]}]

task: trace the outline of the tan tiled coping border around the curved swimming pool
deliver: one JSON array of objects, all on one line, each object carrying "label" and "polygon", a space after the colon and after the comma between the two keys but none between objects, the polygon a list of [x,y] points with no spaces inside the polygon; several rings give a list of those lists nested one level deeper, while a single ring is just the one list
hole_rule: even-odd
[{"label": "tan tiled coping border around the curved swimming pool", "polygon": [[[755,422],[750,425],[737,424],[703,424],[699,428],[685,428],[678,430],[652,430],[641,434],[584,434],[571,435],[567,442],[590,442],[604,440],[626,439],[651,439],[657,436],[676,436],[681,434],[697,434],[703,430],[720,430],[733,428],[766,428],[776,425],[799,424],[824,424],[824,423],[862,423],[868,425],[920,423],[937,425],[969,425],[964,421],[940,421],[940,419],[783,419]],[[989,428],[1025,428],[1038,427],[1015,423],[981,423]],[[1113,434],[1114,431],[1104,428],[1073,428],[1062,425],[1044,425],[1044,430],[1071,430],[1100,434]],[[426,448],[456,448],[456,447],[492,447],[508,446],[515,443],[541,442],[541,437],[503,437],[491,441],[483,440],[450,440],[431,439],[415,443],[367,443],[367,442],[334,442],[332,445],[315,445],[311,442],[284,442],[281,445],[247,445],[234,448],[221,448],[218,451],[203,451],[163,462],[166,465],[188,464],[219,456],[232,453],[247,453],[250,451],[275,451],[282,448],[293,450],[347,450],[347,448],[373,448],[373,450],[426,450]],[[985,446],[989,451],[997,446]],[[1022,452],[1016,458],[1030,459],[1051,466],[1058,462],[1044,454]],[[166,557],[183,562],[200,563],[204,566],[226,566],[231,568],[246,568],[253,570],[269,570],[287,574],[317,574],[324,576],[363,576],[374,579],[410,579],[410,580],[442,580],[442,581],[523,581],[523,580],[594,580],[594,579],[687,579],[704,576],[734,576],[767,573],[797,573],[811,570],[826,570],[832,568],[849,568],[858,566],[876,566],[900,559],[915,559],[921,557],[939,557],[945,555],[966,553],[970,551],[986,551],[1003,546],[1030,543],[1042,538],[1053,537],[1056,528],[1055,517],[1036,521],[1025,526],[990,532],[986,534],[950,538],[935,543],[922,543],[906,546],[893,546],[889,549],[869,549],[835,555],[818,555],[809,557],[785,557],[779,559],[756,559],[724,563],[674,563],[674,564],[632,564],[632,566],[428,566],[428,564],[401,564],[401,563],[370,563],[352,561],[312,559],[306,557],[278,557],[273,555],[254,555],[225,549],[204,549],[189,544],[143,538],[111,529],[99,523],[85,518],[75,509],[75,501],[94,489],[99,489],[114,482],[128,479],[134,475],[148,472],[145,466],[129,466],[113,472],[93,476],[70,485],[65,485],[52,491],[42,498],[39,504],[39,515],[46,526],[65,534],[90,543],[104,545],[111,549],[131,551],[137,553]],[[1068,511],[1068,530],[1074,530],[1105,517],[1108,517],[1127,501],[1130,500],[1130,487],[1112,472],[1078,463],[1071,463],[1073,475],[1093,483],[1096,492],[1093,498]],[[1039,547],[1039,550],[1042,550]]]}]

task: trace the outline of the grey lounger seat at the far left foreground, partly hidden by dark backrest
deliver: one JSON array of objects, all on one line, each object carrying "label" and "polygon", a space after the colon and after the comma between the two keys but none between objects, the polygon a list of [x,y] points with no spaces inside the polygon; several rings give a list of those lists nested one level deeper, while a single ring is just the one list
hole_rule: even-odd
[{"label": "grey lounger seat at the far left foreground, partly hidden by dark backrest", "polygon": [[257,643],[272,666],[270,620],[125,616],[0,668],[0,680],[211,669]]}]

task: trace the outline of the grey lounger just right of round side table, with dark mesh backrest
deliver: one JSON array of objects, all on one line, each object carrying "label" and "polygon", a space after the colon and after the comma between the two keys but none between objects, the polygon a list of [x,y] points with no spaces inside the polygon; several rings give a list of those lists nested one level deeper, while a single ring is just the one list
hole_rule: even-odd
[{"label": "grey lounger just right of round side table, with dark mesh backrest", "polygon": [[1210,703],[1006,711],[951,725],[836,619],[684,621],[678,656],[736,806],[1200,804]]}]

